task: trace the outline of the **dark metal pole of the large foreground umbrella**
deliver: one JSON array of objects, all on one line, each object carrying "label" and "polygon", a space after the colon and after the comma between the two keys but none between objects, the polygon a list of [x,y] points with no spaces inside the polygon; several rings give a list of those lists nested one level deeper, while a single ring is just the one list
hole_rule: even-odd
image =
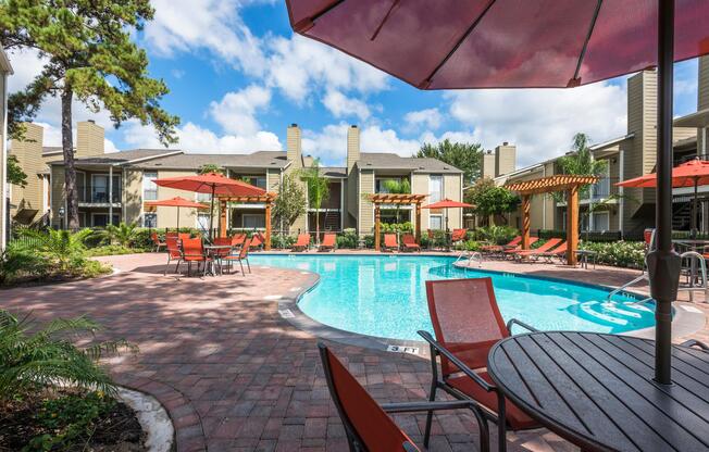
[{"label": "dark metal pole of the large foreground umbrella", "polygon": [[657,248],[647,256],[655,304],[655,381],[672,382],[672,302],[680,284],[680,255],[672,249],[672,83],[674,0],[658,2]]}]

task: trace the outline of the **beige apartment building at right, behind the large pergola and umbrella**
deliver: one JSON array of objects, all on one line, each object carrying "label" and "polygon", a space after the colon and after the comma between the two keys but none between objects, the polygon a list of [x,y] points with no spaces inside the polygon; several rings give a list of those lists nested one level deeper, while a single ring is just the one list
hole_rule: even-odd
[{"label": "beige apartment building at right, behind the large pergola and umbrella", "polygon": [[[696,113],[676,118],[673,133],[673,160],[675,165],[688,159],[709,159],[707,155],[707,127],[709,126],[709,58],[699,61],[698,109]],[[657,73],[648,70],[627,79],[627,133],[622,137],[592,147],[594,156],[607,161],[606,174],[580,200],[582,230],[619,231],[623,237],[638,238],[646,227],[655,224],[655,189],[621,188],[615,184],[655,171],[657,156]],[[502,152],[502,158],[498,153]],[[508,152],[509,154],[509,152]],[[536,179],[559,174],[558,159],[540,162],[520,170],[514,164],[499,165],[505,161],[503,149],[485,155],[484,172],[499,185]],[[494,176],[493,176],[494,173]],[[674,189],[673,229],[687,230],[691,225],[691,189]],[[700,189],[704,230],[708,230],[709,187]],[[564,229],[565,202],[549,194],[532,197],[532,229]],[[510,215],[512,226],[521,226],[521,215]]]}]

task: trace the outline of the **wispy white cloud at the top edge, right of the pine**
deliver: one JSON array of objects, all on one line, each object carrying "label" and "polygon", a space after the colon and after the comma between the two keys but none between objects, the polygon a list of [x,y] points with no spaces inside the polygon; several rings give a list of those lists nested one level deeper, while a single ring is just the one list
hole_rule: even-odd
[{"label": "wispy white cloud at the top edge, right of the pine", "polygon": [[154,20],[146,24],[145,39],[162,55],[208,50],[219,60],[260,75],[265,68],[261,41],[239,15],[238,0],[152,0]]}]

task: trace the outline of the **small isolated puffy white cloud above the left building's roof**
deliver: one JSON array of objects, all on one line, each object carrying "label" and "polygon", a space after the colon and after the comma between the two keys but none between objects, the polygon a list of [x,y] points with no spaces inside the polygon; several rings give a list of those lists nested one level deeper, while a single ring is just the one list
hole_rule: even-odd
[{"label": "small isolated puffy white cloud above the left building's roof", "polygon": [[220,102],[210,103],[210,114],[222,128],[236,135],[254,135],[260,125],[256,120],[257,110],[271,102],[271,91],[250,85],[236,92],[227,92]]}]

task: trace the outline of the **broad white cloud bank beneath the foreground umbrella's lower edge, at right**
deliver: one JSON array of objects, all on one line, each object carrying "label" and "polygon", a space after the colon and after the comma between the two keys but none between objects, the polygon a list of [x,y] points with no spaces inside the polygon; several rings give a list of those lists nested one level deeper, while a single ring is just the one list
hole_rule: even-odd
[{"label": "broad white cloud bank beneath the foreground umbrella's lower edge, at right", "polygon": [[594,142],[626,131],[625,86],[608,83],[574,89],[468,90],[445,95],[450,114],[487,148],[518,147],[518,167],[563,154],[575,133]]}]

